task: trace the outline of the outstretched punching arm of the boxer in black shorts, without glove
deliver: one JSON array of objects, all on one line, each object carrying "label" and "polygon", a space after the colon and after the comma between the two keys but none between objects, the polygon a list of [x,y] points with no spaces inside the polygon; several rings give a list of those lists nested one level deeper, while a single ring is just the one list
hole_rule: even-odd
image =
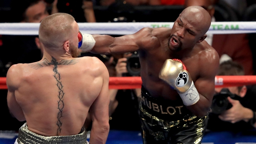
[{"label": "outstretched punching arm of the boxer in black shorts, without glove", "polygon": [[121,37],[111,37],[110,35],[93,35],[96,44],[91,50],[97,54],[125,53],[158,45],[158,39],[152,36],[152,28],[144,27],[134,34],[123,35]]}]

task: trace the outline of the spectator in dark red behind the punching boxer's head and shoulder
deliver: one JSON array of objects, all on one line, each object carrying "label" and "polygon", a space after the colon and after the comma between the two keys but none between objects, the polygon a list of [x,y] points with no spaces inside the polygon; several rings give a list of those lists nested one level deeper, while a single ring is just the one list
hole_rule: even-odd
[{"label": "spectator in dark red behind the punching boxer's head and shoulder", "polygon": [[[205,8],[214,22],[218,19],[214,17],[215,3],[215,0],[185,0],[185,7],[198,5]],[[220,61],[222,55],[226,54],[243,66],[245,75],[253,75],[252,52],[247,34],[207,34],[205,40],[218,52]]]}]

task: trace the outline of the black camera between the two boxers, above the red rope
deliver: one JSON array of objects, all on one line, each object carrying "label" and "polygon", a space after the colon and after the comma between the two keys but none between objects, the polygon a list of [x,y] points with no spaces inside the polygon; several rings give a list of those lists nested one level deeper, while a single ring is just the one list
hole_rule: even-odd
[{"label": "black camera between the two boxers, above the red rope", "polygon": [[140,62],[139,62],[139,54],[137,51],[133,52],[130,57],[127,58],[127,71],[131,76],[139,76],[140,75]]}]

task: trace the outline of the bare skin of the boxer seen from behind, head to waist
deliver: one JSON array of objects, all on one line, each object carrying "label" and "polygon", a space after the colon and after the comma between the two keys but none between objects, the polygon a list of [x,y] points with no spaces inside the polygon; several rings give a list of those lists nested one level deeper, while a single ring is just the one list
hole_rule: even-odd
[{"label": "bare skin of the boxer seen from behind, head to waist", "polygon": [[[64,21],[63,25],[69,25],[63,18],[65,15],[56,13],[46,17],[46,22],[41,22],[39,38],[47,40],[50,36],[63,33],[60,30],[51,33],[53,28],[50,26],[60,25],[59,21],[54,23],[60,18]],[[42,60],[15,64],[9,68],[8,107],[18,120],[26,120],[30,131],[43,136],[79,134],[90,110],[93,121],[90,143],[104,144],[109,132],[108,69],[98,58],[75,58],[79,27],[75,20],[71,22],[69,30],[66,30],[67,40],[63,41],[64,38],[60,37],[60,42],[64,44],[60,43],[57,47],[58,39],[55,37],[55,47],[49,48],[46,46],[52,46],[53,43],[46,45],[49,41],[44,41]],[[51,35],[44,37],[49,31]]]}]

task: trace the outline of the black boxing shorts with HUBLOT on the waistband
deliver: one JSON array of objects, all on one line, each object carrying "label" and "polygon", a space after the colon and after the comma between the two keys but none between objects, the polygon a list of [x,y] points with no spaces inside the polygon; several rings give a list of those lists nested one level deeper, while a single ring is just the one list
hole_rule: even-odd
[{"label": "black boxing shorts with HUBLOT on the waistband", "polygon": [[198,118],[180,101],[157,99],[143,87],[139,103],[143,144],[201,144],[208,117]]}]

